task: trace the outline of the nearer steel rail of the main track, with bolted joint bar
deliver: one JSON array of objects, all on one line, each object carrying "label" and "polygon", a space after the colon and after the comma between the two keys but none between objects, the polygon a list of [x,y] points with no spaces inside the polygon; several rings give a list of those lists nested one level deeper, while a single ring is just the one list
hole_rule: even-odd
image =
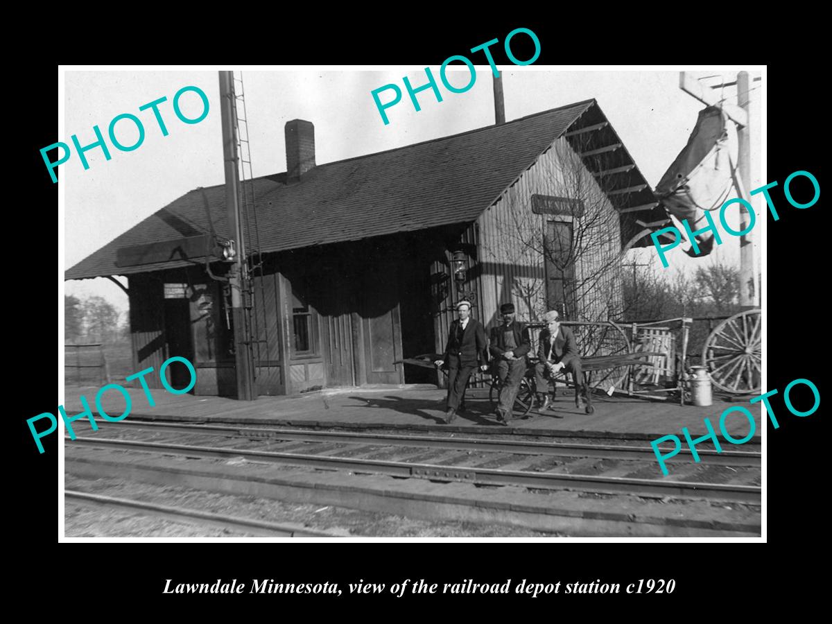
[{"label": "nearer steel rail of the main track, with bolted joint bar", "polygon": [[[64,436],[64,440],[70,440]],[[750,485],[726,485],[722,483],[696,483],[662,479],[626,477],[602,477],[599,475],[532,473],[498,468],[472,468],[468,466],[441,466],[429,463],[390,462],[378,459],[339,458],[302,453],[275,453],[241,448],[215,448],[112,440],[106,438],[77,437],[71,446],[118,448],[120,450],[145,451],[181,455],[191,458],[249,458],[255,463],[283,463],[329,470],[349,470],[354,473],[380,473],[394,477],[426,478],[434,481],[463,481],[483,485],[513,485],[526,488],[561,489],[606,493],[648,494],[682,498],[707,498],[743,501],[759,504],[761,488]]]}]

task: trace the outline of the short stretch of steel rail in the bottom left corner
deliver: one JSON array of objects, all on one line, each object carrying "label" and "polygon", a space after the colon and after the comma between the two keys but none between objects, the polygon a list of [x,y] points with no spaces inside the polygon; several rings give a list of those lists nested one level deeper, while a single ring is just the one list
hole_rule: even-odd
[{"label": "short stretch of steel rail in the bottom left corner", "polygon": [[236,516],[224,516],[219,513],[203,512],[197,509],[186,509],[136,501],[129,498],[115,498],[102,494],[77,492],[75,490],[64,491],[64,496],[73,503],[92,504],[98,507],[131,509],[142,512],[150,512],[153,516],[165,518],[175,522],[200,521],[201,524],[210,524],[225,529],[232,529],[243,532],[253,532],[265,537],[342,537],[326,531],[317,531],[312,528],[301,527],[293,524],[275,524],[249,518]]}]

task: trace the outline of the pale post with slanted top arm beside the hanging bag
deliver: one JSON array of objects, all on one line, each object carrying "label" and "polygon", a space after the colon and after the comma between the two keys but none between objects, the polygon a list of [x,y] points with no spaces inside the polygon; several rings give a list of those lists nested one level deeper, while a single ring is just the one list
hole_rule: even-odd
[{"label": "pale post with slanted top arm beside the hanging bag", "polygon": [[[759,80],[759,78],[755,78]],[[717,87],[730,87],[736,85],[737,104],[721,102],[721,97],[714,87],[706,87],[691,77],[686,72],[679,74],[679,88],[696,97],[697,100],[707,106],[721,106],[726,116],[736,124],[737,141],[739,151],[737,153],[736,169],[740,176],[740,189],[738,195],[745,201],[751,201],[748,192],[751,188],[751,171],[759,174],[759,162],[751,162],[751,132],[750,132],[750,79],[748,72],[739,72],[735,82],[726,82]],[[753,165],[753,166],[752,166]],[[765,217],[765,210],[762,211]],[[740,230],[745,230],[750,223],[750,216],[745,206],[740,204]],[[761,226],[755,230],[760,231]],[[757,255],[755,254],[754,232],[740,236],[740,306],[742,310],[760,307],[760,292],[757,288]]]}]

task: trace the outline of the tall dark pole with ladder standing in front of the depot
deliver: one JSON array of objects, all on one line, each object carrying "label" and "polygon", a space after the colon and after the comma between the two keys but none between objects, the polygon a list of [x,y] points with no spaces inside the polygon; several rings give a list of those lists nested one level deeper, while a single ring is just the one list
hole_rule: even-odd
[{"label": "tall dark pole with ladder standing in front of the depot", "polygon": [[228,207],[229,236],[235,243],[235,255],[228,273],[231,289],[231,319],[234,325],[234,354],[237,373],[237,399],[256,399],[251,358],[251,340],[246,323],[243,285],[247,283],[245,240],[240,226],[240,171],[234,113],[234,74],[220,72],[220,116],[222,119],[222,156],[225,161],[225,205]]}]

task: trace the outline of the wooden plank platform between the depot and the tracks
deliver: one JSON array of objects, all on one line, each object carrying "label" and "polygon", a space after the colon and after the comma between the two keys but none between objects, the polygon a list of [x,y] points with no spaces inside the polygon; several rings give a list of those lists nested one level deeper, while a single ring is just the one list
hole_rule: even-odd
[{"label": "wooden plank platform between the depot and the tracks", "polygon": [[[595,414],[584,414],[575,408],[572,392],[561,391],[554,403],[554,411],[547,410],[531,420],[515,420],[511,428],[506,428],[496,422],[483,390],[469,394],[469,411],[459,414],[453,425],[443,423],[445,391],[428,385],[330,389],[300,396],[261,397],[250,402],[191,394],[177,396],[165,390],[151,389],[153,407],[148,404],[142,389],[127,390],[132,401],[131,416],[136,418],[275,426],[442,428],[468,433],[515,431],[549,436],[563,432],[631,439],[654,439],[668,433],[681,438],[682,427],[687,427],[691,435],[701,435],[706,433],[705,417],[711,419],[718,433],[720,414],[724,410],[734,405],[749,407],[747,400],[729,403],[716,399],[710,407],[700,408],[596,394],[592,399]],[[78,397],[82,394],[94,406],[97,391],[98,387],[67,386],[64,403],[67,414],[81,411]],[[108,414],[118,416],[123,413],[125,402],[121,394],[111,390],[102,397],[102,406]],[[750,412],[755,414],[756,423],[755,436],[750,442],[760,443],[760,409],[750,407]],[[79,420],[75,424],[77,433],[87,429],[85,421]],[[744,438],[748,433],[748,422],[742,414],[731,414],[726,428],[735,438]],[[740,448],[727,443],[724,446]]]}]

